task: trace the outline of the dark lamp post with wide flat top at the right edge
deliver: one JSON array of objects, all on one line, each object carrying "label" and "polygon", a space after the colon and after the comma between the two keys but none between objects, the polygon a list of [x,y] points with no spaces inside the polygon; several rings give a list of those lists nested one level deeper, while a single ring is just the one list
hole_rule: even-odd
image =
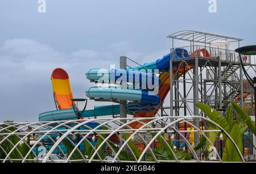
[{"label": "dark lamp post with wide flat top at the right edge", "polygon": [[[243,69],[243,73],[245,74],[245,77],[248,80],[248,82],[250,83],[251,87],[254,88],[254,102],[255,102],[254,103],[254,107],[255,107],[256,106],[256,97],[255,97],[255,95],[256,95],[256,77],[251,79],[249,74],[246,72],[245,67],[243,66],[243,61],[242,61],[241,55],[242,54],[243,55],[249,55],[249,56],[256,55],[256,45],[243,46],[241,48],[236,49],[236,52],[239,53],[240,62],[241,62],[242,69]],[[243,97],[243,96],[241,96],[241,97]],[[255,108],[254,108],[254,111],[256,111]],[[254,114],[255,114],[255,125],[256,125],[256,112]]]}]

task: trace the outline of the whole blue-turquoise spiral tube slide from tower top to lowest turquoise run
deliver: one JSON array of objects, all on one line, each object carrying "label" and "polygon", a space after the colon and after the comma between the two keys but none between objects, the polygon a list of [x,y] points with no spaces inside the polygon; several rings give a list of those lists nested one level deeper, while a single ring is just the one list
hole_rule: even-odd
[{"label": "whole blue-turquoise spiral tube slide from tower top to lowest turquoise run", "polygon": [[[168,71],[170,70],[170,60],[171,58],[175,59],[184,59],[190,57],[188,54],[188,51],[182,48],[177,48],[174,50],[173,53],[167,54],[163,58],[150,62],[145,63],[143,66],[136,66],[129,68],[126,73],[129,74],[127,76],[127,79],[129,79],[129,76],[135,76],[134,73],[130,73],[131,70],[155,70],[159,69],[160,71]],[[174,66],[177,66],[174,63]],[[86,78],[91,80],[92,82],[96,82],[99,80],[102,76],[98,75],[98,69],[92,69],[89,70],[88,73],[86,73]],[[105,70],[108,74],[110,74],[110,77],[105,80],[111,79],[111,74],[116,73],[118,70]],[[132,71],[133,72],[133,71]],[[136,71],[135,71],[136,72]],[[138,75],[138,74],[136,74]],[[152,82],[154,82],[153,79],[158,79],[158,77],[151,75],[148,73],[140,73],[139,77],[148,77],[152,79]],[[99,77],[98,77],[99,76]],[[115,81],[118,81],[118,75],[115,77]],[[138,83],[141,83],[142,78],[139,78],[139,80],[135,80]],[[160,85],[160,83],[159,83]],[[117,100],[127,100],[131,105],[127,107],[127,111],[133,111],[133,112],[139,112],[144,111],[143,107],[157,107],[160,104],[160,97],[158,95],[151,94],[148,91],[142,91],[142,90],[125,90],[121,88],[97,88],[92,87],[89,88],[88,91],[86,91],[86,96],[90,98],[105,98],[105,99],[117,99]],[[137,103],[134,104],[133,103]],[[139,109],[141,107],[142,109]],[[112,116],[114,114],[119,114],[119,105],[104,105],[104,106],[96,106],[92,110],[87,110],[84,112],[82,117],[97,117],[97,116]],[[73,112],[73,109],[64,109],[64,110],[57,110],[57,111],[50,111],[50,112],[44,112],[39,115],[39,121],[53,121],[53,120],[68,120],[68,119],[76,119],[75,113]]]}]

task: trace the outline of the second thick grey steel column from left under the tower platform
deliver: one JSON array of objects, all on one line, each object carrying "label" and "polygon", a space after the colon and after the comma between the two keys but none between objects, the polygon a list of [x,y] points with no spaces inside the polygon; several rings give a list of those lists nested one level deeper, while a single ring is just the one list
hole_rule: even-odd
[{"label": "second thick grey steel column from left under the tower platform", "polygon": [[[193,96],[194,96],[194,115],[199,116],[199,108],[196,107],[196,103],[199,102],[199,57],[195,57],[195,66],[193,68],[194,82],[193,82]],[[195,119],[194,124],[199,128],[199,120]],[[199,143],[199,132],[195,133],[195,145]],[[197,151],[197,155],[198,151]]]}]

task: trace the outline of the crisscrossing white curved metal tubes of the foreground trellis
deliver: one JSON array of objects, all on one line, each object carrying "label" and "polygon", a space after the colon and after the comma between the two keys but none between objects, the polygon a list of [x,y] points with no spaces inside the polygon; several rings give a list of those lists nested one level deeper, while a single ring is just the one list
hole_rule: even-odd
[{"label": "crisscrossing white curved metal tubes of the foreground trellis", "polygon": [[[166,119],[167,119],[167,120],[166,120]],[[174,119],[175,121],[171,121],[171,122],[168,122],[168,123],[167,123],[167,121],[168,121],[169,119],[170,119],[170,120]],[[215,125],[215,126],[218,128],[218,130],[220,129],[219,131],[221,131],[222,133],[224,133],[224,134],[226,135],[226,137],[228,137],[228,139],[230,139],[230,141],[233,143],[234,147],[236,148],[236,150],[237,150],[237,152],[238,152],[238,155],[240,155],[240,158],[242,159],[242,162],[245,162],[244,159],[243,159],[243,156],[242,156],[242,154],[241,154],[241,151],[240,151],[239,148],[237,147],[236,143],[233,141],[232,137],[230,137],[230,135],[229,135],[224,129],[222,129],[222,128],[220,127],[220,125],[218,125],[218,124],[216,124],[215,122],[209,120],[208,118],[201,117],[201,116],[156,117],[156,118],[155,118],[155,117],[150,117],[150,118],[126,118],[125,120],[130,121],[130,122],[127,122],[126,124],[123,124],[123,123],[121,122],[121,120],[123,120],[123,118],[96,118],[96,119],[91,119],[91,120],[82,121],[82,122],[81,122],[81,120],[71,120],[71,121],[55,121],[55,122],[35,122],[35,123],[32,123],[32,124],[31,124],[31,123],[11,123],[11,125],[8,124],[8,123],[5,123],[5,124],[0,124],[0,128],[1,128],[1,130],[8,130],[6,127],[4,127],[4,128],[2,127],[2,125],[7,125],[8,128],[15,127],[15,129],[22,130],[23,128],[26,128],[26,126],[30,125],[30,126],[32,127],[32,130],[31,130],[31,131],[28,131],[28,132],[24,131],[24,132],[19,133],[17,130],[15,130],[15,131],[13,131],[13,132],[11,132],[10,130],[8,130],[8,131],[10,132],[10,134],[8,134],[8,133],[7,133],[7,134],[6,134],[6,133],[3,133],[3,138],[5,138],[5,139],[6,139],[6,137],[10,137],[10,135],[18,135],[18,137],[19,137],[19,139],[20,139],[19,142],[24,142],[24,139],[26,139],[26,137],[28,137],[28,135],[31,134],[31,133],[36,133],[36,134],[39,133],[39,134],[40,134],[40,131],[43,133],[42,136],[51,138],[51,136],[49,136],[50,133],[53,133],[53,132],[56,133],[56,132],[59,132],[59,131],[63,132],[62,130],[57,130],[57,128],[59,128],[60,126],[63,126],[63,125],[64,125],[66,128],[68,128],[68,129],[67,129],[67,130],[64,130],[65,133],[64,133],[60,138],[67,138],[68,135],[70,135],[70,133],[71,133],[72,131],[75,131],[76,133],[80,133],[80,130],[77,130],[77,128],[82,127],[82,126],[84,126],[85,128],[87,128],[86,130],[83,130],[82,133],[81,133],[81,135],[83,136],[83,139],[85,139],[86,137],[88,137],[88,135],[90,135],[90,134],[93,133],[93,132],[96,132],[96,133],[99,134],[100,136],[102,135],[102,133],[112,134],[112,135],[113,135],[113,134],[117,133],[118,131],[119,131],[119,132],[126,132],[126,133],[129,133],[129,134],[131,133],[131,135],[130,135],[129,138],[124,139],[123,145],[119,148],[119,151],[123,150],[123,148],[125,148],[125,146],[127,146],[127,147],[130,148],[128,142],[129,142],[135,135],[139,135],[139,138],[142,139],[142,141],[143,141],[144,144],[146,145],[146,148],[143,150],[143,152],[142,152],[141,156],[139,157],[139,159],[137,159],[136,156],[135,156],[135,160],[137,160],[137,162],[142,162],[142,158],[143,158],[143,156],[146,154],[146,151],[147,151],[147,150],[150,150],[150,152],[151,152],[151,154],[152,154],[152,156],[153,156],[153,158],[154,158],[155,154],[154,154],[154,152],[152,151],[152,148],[150,147],[150,146],[152,145],[153,139],[155,140],[155,139],[156,139],[157,137],[159,137],[159,136],[160,136],[161,138],[163,138],[162,133],[164,132],[164,130],[165,130],[165,129],[171,129],[171,130],[174,130],[177,134],[180,135],[181,140],[184,140],[185,143],[189,146],[189,151],[193,154],[194,158],[197,157],[196,161],[197,161],[197,162],[200,162],[200,160],[198,159],[198,156],[195,155],[195,151],[193,150],[191,144],[188,142],[187,138],[183,135],[183,133],[182,133],[181,130],[179,130],[179,129],[176,128],[175,125],[176,125],[177,122],[180,122],[180,121],[187,122],[187,124],[191,125],[191,129],[192,129],[192,127],[195,129],[195,130],[190,130],[189,133],[192,133],[192,132],[195,132],[195,131],[199,131],[203,136],[206,136],[206,135],[205,135],[205,132],[208,132],[208,131],[211,131],[211,130],[200,130],[200,128],[197,128],[195,125],[193,125],[191,122],[189,122],[189,121],[188,121],[189,119],[201,119],[201,120],[208,121],[208,122],[212,123],[213,125]],[[143,122],[143,120],[148,120],[148,122],[145,123],[145,122]],[[164,121],[164,120],[166,120],[166,121]],[[92,128],[88,128],[89,126],[86,125],[86,124],[89,123],[89,122],[97,122],[99,125],[96,126],[96,128],[93,128],[93,129],[92,129]],[[131,127],[129,126],[129,124],[131,124],[132,122],[140,122],[141,124],[143,124],[143,127],[139,128],[139,129],[133,129],[133,128],[131,128]],[[162,123],[166,124],[166,126],[164,126],[164,128],[162,128],[162,129],[160,129],[160,128],[152,128],[151,124],[154,123],[154,122],[162,122]],[[108,125],[108,123],[110,123],[110,124],[113,123],[113,124],[116,124],[116,125],[121,125],[121,124],[122,124],[122,125],[121,125],[119,128],[112,128],[111,126]],[[56,124],[56,125],[54,125],[54,124]],[[73,126],[73,127],[71,127],[71,126],[69,126],[69,124],[76,124],[76,125]],[[37,126],[37,127],[36,127],[36,128],[33,128],[34,126]],[[52,128],[52,129],[50,129],[50,130],[47,129],[47,131],[44,132],[44,130],[42,130],[42,129],[43,129],[43,128],[47,128],[47,126],[48,126],[49,128]],[[100,128],[101,126],[107,126],[108,130],[97,130],[97,129]],[[123,129],[123,128],[125,128],[125,129]],[[151,141],[147,143],[147,142],[142,138],[141,134],[150,133],[151,131],[158,132],[158,135],[155,135],[155,136],[151,139]],[[214,130],[213,130],[213,131],[214,131]],[[216,130],[216,131],[217,131],[217,130]],[[168,132],[169,132],[169,131],[168,131]],[[24,135],[23,135],[23,134],[24,134]],[[1,135],[1,131],[0,131],[0,135]],[[65,135],[65,136],[64,136],[64,135]],[[23,136],[23,137],[21,137],[21,136]],[[102,136],[101,136],[101,137],[102,137]],[[111,136],[109,136],[109,137],[107,137],[107,138],[109,139],[110,137],[111,137]],[[41,138],[41,140],[42,140],[42,137],[40,137],[40,138]],[[40,138],[38,139],[38,141],[36,141],[36,143],[34,144],[33,147],[35,147],[36,145],[41,144],[41,143],[40,143]],[[60,148],[60,147],[59,147],[59,144],[63,141],[63,139],[60,140],[60,138],[59,138],[58,141],[55,141],[54,139],[51,139],[52,142],[55,143],[55,144],[53,145],[53,146],[55,146],[55,148],[56,148],[56,147]],[[105,138],[105,137],[104,137],[104,138]],[[205,138],[208,138],[208,137],[205,137]],[[105,138],[104,141],[106,142],[106,141],[108,141],[108,139]],[[8,141],[8,140],[9,140],[9,139],[7,138],[7,141]],[[163,140],[164,140],[164,143],[166,143],[166,145],[168,146],[168,142],[167,142],[164,138],[163,138]],[[69,139],[69,141],[71,141],[71,140]],[[207,141],[210,142],[209,139],[207,139]],[[16,145],[14,145],[14,146],[18,146],[19,142],[16,143]],[[71,141],[71,142],[73,143],[73,141]],[[82,140],[80,140],[79,143],[81,143],[81,142],[82,142]],[[11,143],[11,142],[10,142],[10,143]],[[24,143],[26,143],[26,142],[24,142]],[[211,142],[210,142],[210,144],[211,144]],[[75,150],[79,150],[79,149],[77,148],[79,145],[77,145],[77,144],[75,145],[74,143],[73,143],[73,145],[76,146],[76,147],[73,149],[73,152],[75,152]],[[104,143],[102,142],[102,143],[100,144],[100,146],[102,147],[103,145],[104,145]],[[211,144],[211,145],[212,145],[212,144]],[[52,146],[51,149],[47,152],[48,157],[49,157],[49,155],[52,154],[53,150],[55,150],[55,148],[53,148],[53,146]],[[90,144],[90,146],[92,146],[92,144]],[[1,144],[0,144],[0,148],[2,149]],[[170,146],[169,146],[168,148],[171,149]],[[32,149],[33,149],[33,148],[30,148],[30,152],[32,151]],[[94,150],[94,156],[95,156],[95,155],[98,155],[98,150],[100,150],[100,147],[98,147],[97,149],[96,149],[96,148],[94,148],[94,149],[95,149],[95,150]],[[15,147],[13,147],[12,150],[14,151],[14,150],[15,150]],[[51,151],[51,150],[52,150],[52,151]],[[113,151],[112,148],[110,148],[110,150]],[[130,149],[130,151],[131,151],[131,153],[134,155],[134,152],[133,152],[131,149]],[[23,158],[23,156],[22,156],[22,159],[23,159],[22,162],[26,162],[27,155],[30,154],[30,152],[28,152],[24,158]],[[80,154],[81,154],[81,151],[80,151],[80,150],[79,150],[79,152],[80,152]],[[113,152],[114,152],[114,151],[113,151]],[[6,151],[4,151],[4,153],[6,153]],[[113,157],[114,159],[112,160],[112,162],[124,162],[124,161],[121,161],[121,160],[118,159],[118,155],[119,155],[119,154],[120,154],[120,152],[119,152],[119,153],[118,153],[118,152],[115,153],[115,155],[114,155],[114,157]],[[72,155],[72,154],[69,154],[69,155],[67,156],[67,160],[65,160],[65,162],[70,162],[70,161],[71,161],[71,160],[69,160],[70,157],[71,157],[71,155]],[[218,155],[218,158],[220,159],[220,162],[222,162],[221,158],[219,157],[219,154],[217,154],[217,155]],[[81,156],[82,156],[82,154],[81,154]],[[94,156],[93,156],[93,158],[94,158]],[[5,159],[7,160],[8,158],[10,159],[10,154],[7,155]],[[105,160],[105,159],[101,159],[101,158],[100,158],[100,160],[94,160],[93,158],[85,159],[84,156],[82,156],[82,158],[83,158],[82,160],[84,160],[84,161],[88,161],[88,160],[89,160],[89,162],[96,162],[96,161],[99,161],[99,162],[106,162],[106,161],[108,161],[108,162],[109,162],[109,160]],[[174,162],[180,162],[180,161],[176,158],[175,153],[174,153],[174,158],[175,158]],[[46,157],[44,158],[44,162],[46,162],[47,159],[48,159],[48,158],[47,158],[47,156],[46,156]],[[117,160],[117,159],[118,159],[118,160]],[[163,161],[163,160],[158,160],[156,157],[154,158],[154,160],[155,160],[155,162],[162,162],[162,161]],[[167,161],[168,161],[168,160],[167,160]],[[168,161],[168,162],[172,162],[172,161]]]}]

